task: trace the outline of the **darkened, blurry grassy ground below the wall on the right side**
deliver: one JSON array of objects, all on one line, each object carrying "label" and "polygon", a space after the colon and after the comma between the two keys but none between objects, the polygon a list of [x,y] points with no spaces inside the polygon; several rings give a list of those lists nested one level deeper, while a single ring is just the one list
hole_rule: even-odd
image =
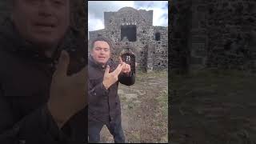
[{"label": "darkened, blurry grassy ground below the wall on the right side", "polygon": [[255,144],[255,79],[237,71],[174,77],[170,142]]}]

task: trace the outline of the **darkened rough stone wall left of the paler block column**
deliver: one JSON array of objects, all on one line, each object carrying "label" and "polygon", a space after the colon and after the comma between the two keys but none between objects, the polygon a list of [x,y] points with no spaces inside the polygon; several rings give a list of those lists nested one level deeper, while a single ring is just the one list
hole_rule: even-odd
[{"label": "darkened rough stone wall left of the paler block column", "polygon": [[170,70],[186,73],[190,58],[190,1],[172,1],[170,14]]}]

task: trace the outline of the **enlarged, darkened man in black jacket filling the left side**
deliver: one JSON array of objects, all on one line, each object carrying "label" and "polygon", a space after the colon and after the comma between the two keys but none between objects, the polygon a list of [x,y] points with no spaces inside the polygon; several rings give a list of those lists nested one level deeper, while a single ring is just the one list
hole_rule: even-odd
[{"label": "enlarged, darkened man in black jacket filling the left side", "polygon": [[0,28],[0,143],[87,142],[86,50],[69,0],[14,0]]}]

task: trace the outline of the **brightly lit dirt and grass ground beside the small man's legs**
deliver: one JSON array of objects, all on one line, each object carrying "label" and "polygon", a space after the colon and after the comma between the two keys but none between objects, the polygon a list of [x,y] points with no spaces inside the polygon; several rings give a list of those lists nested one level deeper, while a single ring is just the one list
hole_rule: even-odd
[{"label": "brightly lit dirt and grass ground beside the small man's legs", "polygon": [[[138,72],[134,86],[119,85],[126,142],[168,142],[167,72]],[[106,126],[101,142],[114,142]]]}]

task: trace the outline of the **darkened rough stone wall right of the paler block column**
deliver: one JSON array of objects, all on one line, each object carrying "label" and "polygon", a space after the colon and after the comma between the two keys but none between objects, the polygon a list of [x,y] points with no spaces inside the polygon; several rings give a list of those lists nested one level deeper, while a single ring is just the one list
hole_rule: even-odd
[{"label": "darkened rough stone wall right of the paler block column", "polygon": [[255,1],[210,1],[208,66],[255,69]]}]

